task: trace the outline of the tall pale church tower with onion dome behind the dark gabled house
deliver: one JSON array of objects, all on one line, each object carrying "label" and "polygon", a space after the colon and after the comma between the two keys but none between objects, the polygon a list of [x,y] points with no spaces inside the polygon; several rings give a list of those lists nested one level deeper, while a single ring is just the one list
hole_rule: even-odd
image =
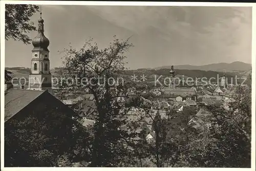
[{"label": "tall pale church tower with onion dome behind the dark gabled house", "polygon": [[52,91],[52,75],[50,73],[50,60],[48,46],[49,39],[44,35],[44,19],[38,19],[38,34],[32,40],[34,49],[32,50],[31,71],[29,75],[30,90]]}]

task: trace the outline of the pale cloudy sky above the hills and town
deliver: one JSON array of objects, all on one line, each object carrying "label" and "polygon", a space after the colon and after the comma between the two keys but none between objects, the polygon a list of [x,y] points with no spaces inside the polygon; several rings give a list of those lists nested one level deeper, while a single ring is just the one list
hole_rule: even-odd
[{"label": "pale cloudy sky above the hills and town", "polygon": [[[51,68],[60,67],[69,43],[80,48],[92,37],[100,48],[116,35],[131,37],[130,69],[168,65],[251,63],[250,7],[68,6],[42,5],[45,35],[50,40]],[[37,26],[39,13],[31,17]],[[28,33],[30,38],[37,31]],[[33,45],[5,41],[6,67],[30,68]]]}]

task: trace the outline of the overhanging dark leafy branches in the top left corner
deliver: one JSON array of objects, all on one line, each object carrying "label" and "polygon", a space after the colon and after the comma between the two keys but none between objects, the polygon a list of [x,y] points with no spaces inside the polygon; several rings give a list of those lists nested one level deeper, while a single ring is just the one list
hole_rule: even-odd
[{"label": "overhanging dark leafy branches in the top left corner", "polygon": [[38,12],[36,5],[6,4],[5,8],[5,39],[10,38],[30,44],[30,38],[26,34],[36,30],[30,17]]}]

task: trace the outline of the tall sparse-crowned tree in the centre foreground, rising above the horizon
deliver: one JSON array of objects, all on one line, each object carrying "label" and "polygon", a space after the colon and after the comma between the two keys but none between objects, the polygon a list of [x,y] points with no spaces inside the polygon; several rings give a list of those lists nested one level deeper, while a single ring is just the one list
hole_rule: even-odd
[{"label": "tall sparse-crowned tree in the centre foreground, rising above the horizon", "polygon": [[[119,40],[114,37],[109,47],[101,50],[92,41],[93,39],[86,41],[79,50],[70,46],[63,51],[66,55],[62,77],[73,78],[78,83],[62,82],[60,90],[72,87],[74,91],[82,91],[88,88],[94,96],[96,109],[92,115],[96,122],[90,166],[123,165],[124,156],[134,154],[129,146],[133,144],[136,133],[120,130],[119,127],[127,124],[130,130],[133,129],[132,121],[126,121],[124,116],[132,107],[142,102],[140,98],[131,98],[129,105],[124,106],[124,99],[140,97],[141,90],[118,75],[119,71],[125,69],[124,53],[133,45],[129,43],[129,38]],[[129,95],[132,90],[133,93]]]}]

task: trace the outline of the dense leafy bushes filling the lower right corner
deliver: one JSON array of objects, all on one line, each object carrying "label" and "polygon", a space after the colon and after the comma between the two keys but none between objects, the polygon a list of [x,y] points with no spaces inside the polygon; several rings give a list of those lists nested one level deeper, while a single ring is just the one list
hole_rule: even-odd
[{"label": "dense leafy bushes filling the lower right corner", "polygon": [[[196,115],[198,110],[190,107],[168,119],[157,116],[156,141],[148,148],[148,153],[156,156],[156,165],[250,167],[250,88],[238,86],[232,97],[229,110],[214,105],[206,107],[202,115]],[[201,126],[195,129],[189,124],[191,120]]]}]

